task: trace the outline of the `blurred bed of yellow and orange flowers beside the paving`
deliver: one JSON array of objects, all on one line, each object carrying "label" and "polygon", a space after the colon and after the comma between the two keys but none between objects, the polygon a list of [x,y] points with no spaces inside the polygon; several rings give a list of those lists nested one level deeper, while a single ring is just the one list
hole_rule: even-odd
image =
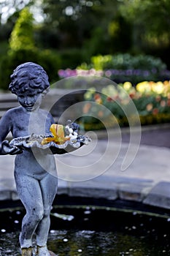
[{"label": "blurred bed of yellow and orange flowers beside the paving", "polygon": [[126,127],[138,121],[142,125],[167,123],[170,121],[170,81],[143,81],[136,87],[125,82],[117,87],[108,85],[101,92],[89,89],[82,112],[80,123],[86,130]]}]

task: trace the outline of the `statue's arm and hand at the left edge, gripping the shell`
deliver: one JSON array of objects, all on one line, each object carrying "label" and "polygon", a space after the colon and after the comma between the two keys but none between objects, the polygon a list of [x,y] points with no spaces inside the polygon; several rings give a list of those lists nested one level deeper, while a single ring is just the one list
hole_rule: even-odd
[{"label": "statue's arm and hand at the left edge, gripping the shell", "polygon": [[0,155],[22,153],[20,148],[17,148],[15,146],[9,146],[9,141],[5,140],[11,129],[12,118],[9,111],[7,111],[7,113],[5,113],[0,120]]}]

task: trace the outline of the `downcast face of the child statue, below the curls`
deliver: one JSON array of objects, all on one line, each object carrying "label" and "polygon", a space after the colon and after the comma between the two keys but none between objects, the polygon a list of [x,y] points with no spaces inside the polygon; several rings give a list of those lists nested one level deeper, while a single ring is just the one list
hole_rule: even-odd
[{"label": "downcast face of the child statue, below the curls", "polygon": [[42,103],[42,94],[26,91],[23,94],[18,94],[18,102],[27,111],[36,110]]}]

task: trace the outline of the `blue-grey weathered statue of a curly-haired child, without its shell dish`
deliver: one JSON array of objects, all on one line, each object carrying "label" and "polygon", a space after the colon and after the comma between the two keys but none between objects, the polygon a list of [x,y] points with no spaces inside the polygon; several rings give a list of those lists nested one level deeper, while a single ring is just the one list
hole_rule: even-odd
[{"label": "blue-grey weathered statue of a curly-haired child, without its shell dish", "polygon": [[[15,182],[18,196],[26,208],[20,233],[20,248],[23,256],[34,253],[32,238],[36,234],[36,255],[50,256],[47,249],[47,236],[50,228],[50,210],[57,192],[58,179],[50,173],[56,172],[53,154],[34,156],[30,150],[10,146],[5,140],[12,132],[13,138],[29,135],[29,119],[34,118],[34,133],[49,132],[53,117],[39,108],[50,84],[45,70],[38,64],[20,64],[11,75],[9,90],[18,97],[20,107],[12,108],[0,120],[0,154],[16,154]],[[45,131],[42,119],[45,118]],[[42,127],[42,128],[41,128]],[[39,161],[37,161],[39,157]],[[45,162],[49,172],[39,165]]]}]

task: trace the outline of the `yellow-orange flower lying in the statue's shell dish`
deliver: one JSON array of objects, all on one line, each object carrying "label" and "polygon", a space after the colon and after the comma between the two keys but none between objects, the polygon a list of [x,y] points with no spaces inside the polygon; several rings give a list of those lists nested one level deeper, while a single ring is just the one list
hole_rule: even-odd
[{"label": "yellow-orange flower lying in the statue's shell dish", "polygon": [[52,124],[50,127],[50,132],[52,132],[53,137],[44,138],[42,140],[42,145],[50,143],[51,141],[56,144],[63,144],[66,140],[70,140],[69,137],[64,137],[63,125],[62,124]]}]

